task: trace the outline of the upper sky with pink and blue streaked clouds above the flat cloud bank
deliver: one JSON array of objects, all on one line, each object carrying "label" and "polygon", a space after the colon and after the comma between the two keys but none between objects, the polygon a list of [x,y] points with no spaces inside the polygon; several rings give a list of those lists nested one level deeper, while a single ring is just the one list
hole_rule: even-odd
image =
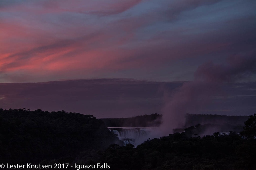
[{"label": "upper sky with pink and blue streaked clouds above the flat cloud bank", "polygon": [[[148,79],[148,70],[154,72],[151,80],[173,81],[170,72],[190,74],[200,60],[251,52],[253,5],[249,0],[1,1],[0,81],[115,78],[117,73]],[[185,62],[189,69],[172,70]],[[184,75],[181,80],[193,79]]]}]

